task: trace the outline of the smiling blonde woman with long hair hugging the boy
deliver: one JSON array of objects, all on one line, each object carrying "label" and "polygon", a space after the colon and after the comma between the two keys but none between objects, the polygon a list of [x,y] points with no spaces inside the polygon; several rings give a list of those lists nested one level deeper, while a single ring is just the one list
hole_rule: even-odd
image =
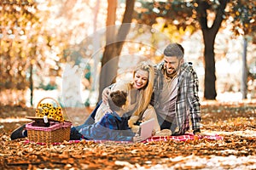
[{"label": "smiling blonde woman with long hair hugging the boy", "polygon": [[154,85],[154,67],[148,62],[141,62],[133,71],[133,77],[130,82],[119,81],[109,88],[105,88],[102,92],[102,105],[96,111],[95,122],[101,120],[108,109],[108,94],[116,90],[122,90],[128,94],[127,99],[129,105],[127,107],[127,115],[129,119],[129,127],[137,131],[138,121],[147,121],[154,118],[154,131],[160,131],[160,125],[157,120],[156,113],[152,105],[149,105]]}]

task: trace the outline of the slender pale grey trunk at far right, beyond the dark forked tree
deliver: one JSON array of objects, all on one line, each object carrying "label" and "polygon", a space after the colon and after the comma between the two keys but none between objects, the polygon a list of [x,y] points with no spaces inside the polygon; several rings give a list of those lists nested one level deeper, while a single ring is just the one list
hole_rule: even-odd
[{"label": "slender pale grey trunk at far right, beyond the dark forked tree", "polygon": [[247,99],[247,38],[243,37],[241,97]]}]

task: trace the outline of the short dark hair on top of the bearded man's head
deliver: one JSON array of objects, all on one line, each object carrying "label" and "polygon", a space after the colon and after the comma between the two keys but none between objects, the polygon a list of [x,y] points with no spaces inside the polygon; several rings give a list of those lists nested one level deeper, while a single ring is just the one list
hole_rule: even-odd
[{"label": "short dark hair on top of the bearded man's head", "polygon": [[167,57],[176,56],[178,59],[182,59],[184,56],[184,48],[179,43],[170,43],[164,50],[164,54]]}]

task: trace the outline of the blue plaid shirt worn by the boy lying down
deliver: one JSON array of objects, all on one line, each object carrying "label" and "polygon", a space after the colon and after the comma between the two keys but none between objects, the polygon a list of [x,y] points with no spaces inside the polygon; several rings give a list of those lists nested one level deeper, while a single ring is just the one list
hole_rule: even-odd
[{"label": "blue plaid shirt worn by the boy lying down", "polygon": [[79,129],[84,139],[133,141],[135,133],[128,127],[129,117],[120,117],[115,112],[105,114],[100,122]]}]

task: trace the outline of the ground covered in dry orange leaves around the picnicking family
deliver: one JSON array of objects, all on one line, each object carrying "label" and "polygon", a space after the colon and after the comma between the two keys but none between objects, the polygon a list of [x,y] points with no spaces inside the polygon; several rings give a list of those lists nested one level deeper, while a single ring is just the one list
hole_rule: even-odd
[{"label": "ground covered in dry orange leaves around the picnicking family", "polygon": [[201,109],[202,132],[223,140],[38,145],[11,141],[11,130],[23,122],[6,121],[34,116],[34,111],[1,106],[0,169],[256,169],[256,102],[208,101]]}]

